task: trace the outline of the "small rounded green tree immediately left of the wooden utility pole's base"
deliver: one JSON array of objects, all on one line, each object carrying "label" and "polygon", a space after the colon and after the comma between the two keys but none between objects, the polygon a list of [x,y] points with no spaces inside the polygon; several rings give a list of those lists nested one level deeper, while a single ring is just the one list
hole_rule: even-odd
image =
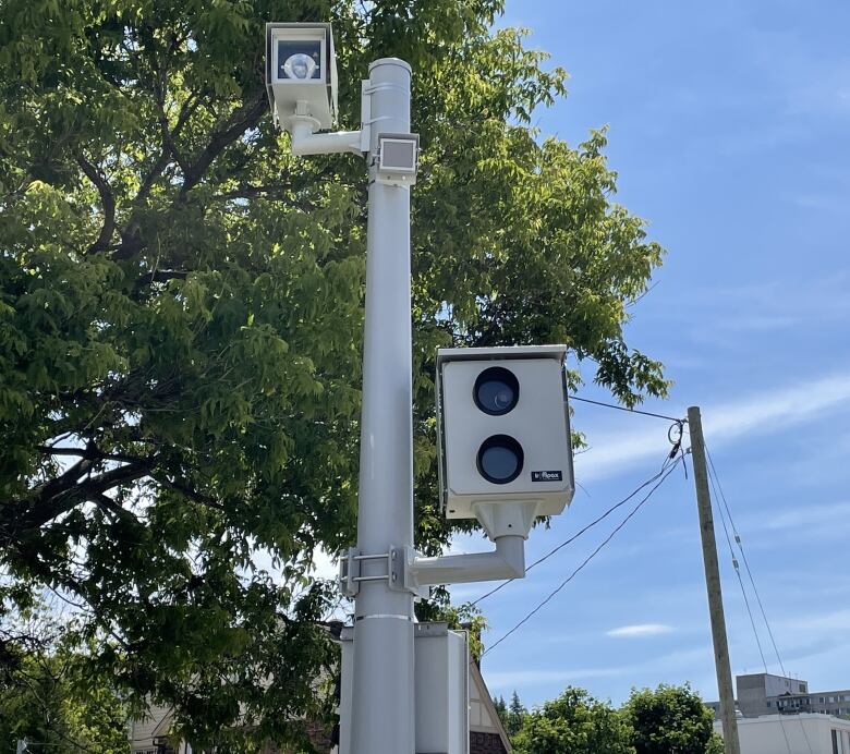
[{"label": "small rounded green tree immediately left of the wooden utility pole's base", "polygon": [[688,684],[633,690],[623,713],[633,730],[636,754],[716,751],[714,713]]}]

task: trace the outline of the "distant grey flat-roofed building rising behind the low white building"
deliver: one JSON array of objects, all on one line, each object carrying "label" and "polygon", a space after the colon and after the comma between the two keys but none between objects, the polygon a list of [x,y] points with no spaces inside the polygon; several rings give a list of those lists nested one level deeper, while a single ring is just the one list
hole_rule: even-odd
[{"label": "distant grey flat-roofed building rising behind the low white building", "polygon": [[[805,713],[835,717],[850,715],[850,689],[811,692],[807,681],[772,673],[736,676],[734,682],[736,705],[744,717]],[[708,706],[719,717],[720,703],[712,702]]]}]

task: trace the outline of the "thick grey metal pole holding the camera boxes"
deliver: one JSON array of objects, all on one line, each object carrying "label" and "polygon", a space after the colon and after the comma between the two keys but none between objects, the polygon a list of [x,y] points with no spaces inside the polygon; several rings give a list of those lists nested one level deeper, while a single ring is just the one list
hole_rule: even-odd
[{"label": "thick grey metal pole holding the camera boxes", "polygon": [[[413,545],[413,375],[410,188],[378,183],[377,136],[410,132],[411,69],[369,66],[372,143],[357,549],[382,555]],[[387,573],[362,560],[361,575]],[[352,754],[413,754],[413,595],[387,579],[361,581],[354,601]]]}]

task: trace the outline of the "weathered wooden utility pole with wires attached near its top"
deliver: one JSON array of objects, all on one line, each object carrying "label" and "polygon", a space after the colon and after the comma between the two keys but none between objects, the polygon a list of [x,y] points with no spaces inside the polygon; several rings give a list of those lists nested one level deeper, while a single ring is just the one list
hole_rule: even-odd
[{"label": "weathered wooden utility pole with wires attached near its top", "polygon": [[724,725],[724,747],[726,754],[741,754],[738,742],[738,719],[734,715],[734,692],[732,670],[729,665],[729,642],[726,637],[724,597],[720,591],[720,569],[717,564],[717,542],[714,536],[712,496],[708,491],[708,470],[705,465],[705,440],[700,408],[688,409],[688,429],[691,435],[693,458],[693,481],[696,486],[696,507],[700,511],[700,534],[703,542],[705,586],[708,592],[708,613],[712,619],[714,664],[717,671],[717,691],[720,694],[720,719]]}]

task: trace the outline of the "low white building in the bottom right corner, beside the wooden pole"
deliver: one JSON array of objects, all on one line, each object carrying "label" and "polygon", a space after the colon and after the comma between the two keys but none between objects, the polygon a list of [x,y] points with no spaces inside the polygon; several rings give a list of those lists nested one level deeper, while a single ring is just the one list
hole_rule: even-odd
[{"label": "low white building in the bottom right corner, beside the wooden pole", "polygon": [[[722,735],[722,723],[714,729]],[[741,754],[850,754],[850,720],[829,715],[738,718]]]}]

